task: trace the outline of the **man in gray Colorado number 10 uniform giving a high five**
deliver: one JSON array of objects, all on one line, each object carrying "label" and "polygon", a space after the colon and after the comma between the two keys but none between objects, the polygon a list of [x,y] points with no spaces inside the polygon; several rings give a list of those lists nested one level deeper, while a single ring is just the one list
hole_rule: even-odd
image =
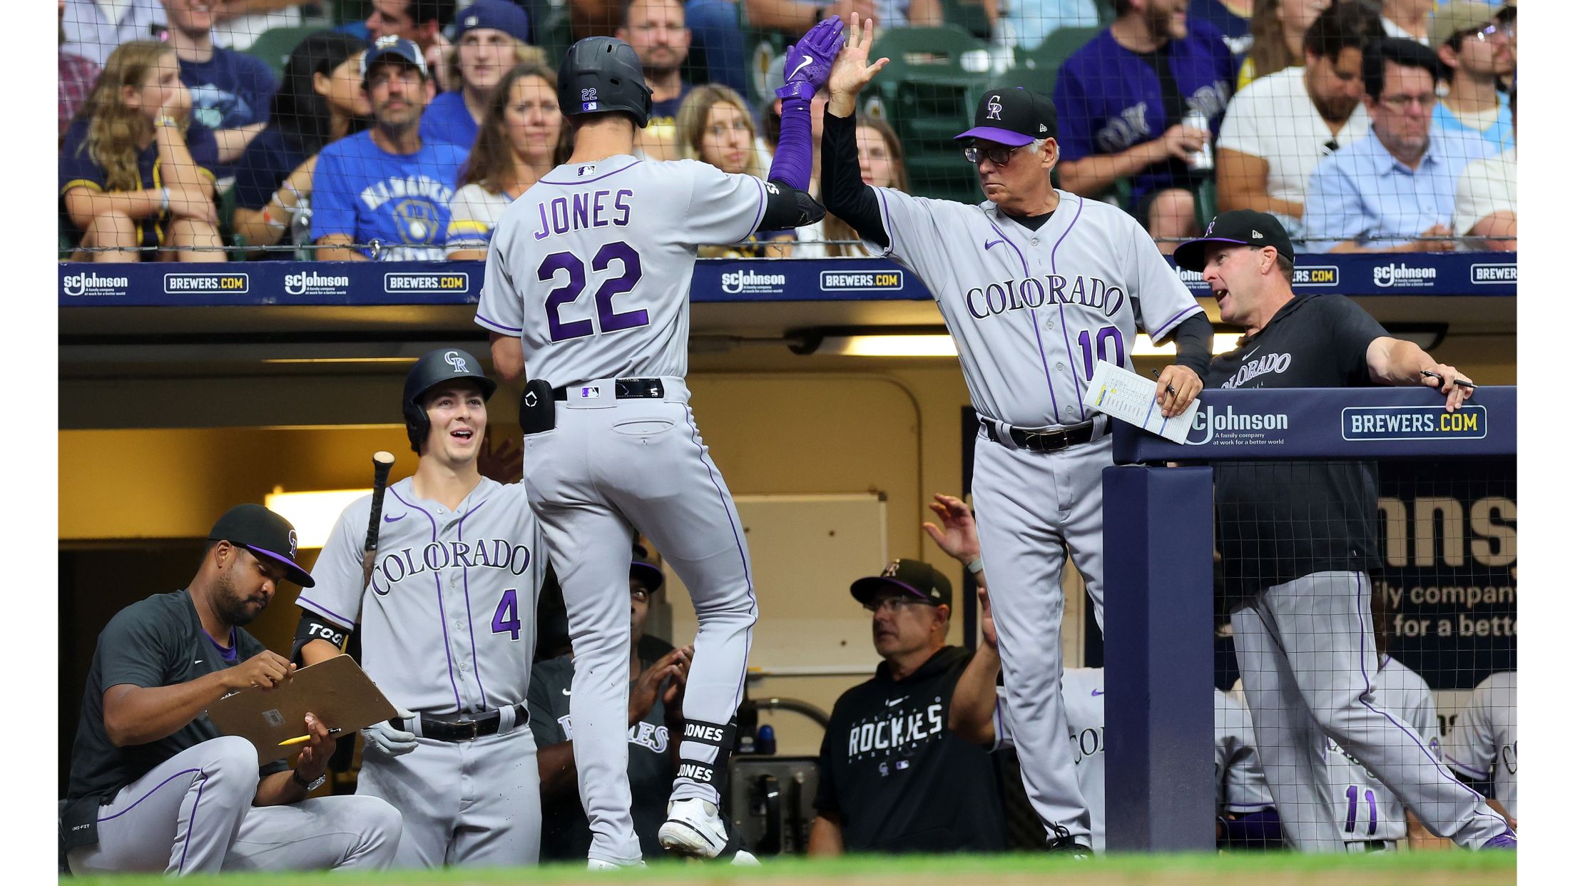
[{"label": "man in gray Colorado number 10 uniform giving a high five", "polygon": [[988,90],[975,126],[958,136],[981,203],[865,184],[855,99],[887,61],[866,63],[869,30],[855,19],[832,71],[821,194],[871,249],[925,281],[956,339],[980,413],[972,492],[1024,785],[1051,847],[1087,851],[1088,807],[1062,739],[1062,569],[1069,549],[1102,624],[1099,471],[1112,462],[1107,423],[1082,394],[1099,359],[1132,367],[1142,323],[1178,344],[1156,400],[1180,415],[1203,388],[1213,329],[1136,219],[1051,186],[1055,109],[1043,96]]}]

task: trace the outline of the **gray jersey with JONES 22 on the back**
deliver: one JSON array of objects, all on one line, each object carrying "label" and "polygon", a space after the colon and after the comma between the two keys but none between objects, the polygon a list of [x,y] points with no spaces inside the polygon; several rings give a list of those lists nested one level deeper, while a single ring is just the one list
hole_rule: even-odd
[{"label": "gray jersey with JONES 22 on the back", "polygon": [[764,211],[764,181],[699,161],[559,166],[504,210],[476,322],[554,386],[684,377],[695,246],[743,240]]}]

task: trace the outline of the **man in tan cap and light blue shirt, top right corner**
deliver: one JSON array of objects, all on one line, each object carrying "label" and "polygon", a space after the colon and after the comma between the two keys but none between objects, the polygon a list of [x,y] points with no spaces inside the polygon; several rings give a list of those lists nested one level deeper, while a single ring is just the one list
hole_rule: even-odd
[{"label": "man in tan cap and light blue shirt, top right corner", "polygon": [[1492,153],[1515,147],[1509,96],[1498,91],[1499,77],[1515,69],[1515,57],[1507,28],[1493,24],[1493,8],[1455,0],[1433,14],[1429,35],[1449,82],[1449,95],[1433,107],[1433,123],[1444,132],[1485,140]]}]

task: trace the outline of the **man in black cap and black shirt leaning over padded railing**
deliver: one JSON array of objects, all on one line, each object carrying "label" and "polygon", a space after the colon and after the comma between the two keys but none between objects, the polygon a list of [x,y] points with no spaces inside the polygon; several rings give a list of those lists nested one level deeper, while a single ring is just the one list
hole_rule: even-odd
[{"label": "man in black cap and black shirt leaning over padded railing", "polygon": [[[1246,329],[1236,350],[1210,364],[1206,388],[1427,385],[1447,411],[1471,396],[1454,366],[1391,337],[1353,301],[1295,295],[1295,251],[1274,216],[1224,213],[1175,259],[1202,271],[1221,318]],[[1304,851],[1345,850],[1325,774],[1328,736],[1435,834],[1468,848],[1514,848],[1509,823],[1416,730],[1372,703],[1377,487],[1372,462],[1214,465],[1236,661],[1285,836]]]}]

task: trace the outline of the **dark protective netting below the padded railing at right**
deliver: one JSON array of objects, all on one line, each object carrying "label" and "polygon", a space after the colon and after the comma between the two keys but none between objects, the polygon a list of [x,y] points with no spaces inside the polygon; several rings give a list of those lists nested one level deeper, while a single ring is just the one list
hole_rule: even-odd
[{"label": "dark protective netting below the padded railing at right", "polygon": [[1214,471],[1235,646],[1216,683],[1251,713],[1287,836],[1377,851],[1501,832],[1518,771],[1514,459]]}]

